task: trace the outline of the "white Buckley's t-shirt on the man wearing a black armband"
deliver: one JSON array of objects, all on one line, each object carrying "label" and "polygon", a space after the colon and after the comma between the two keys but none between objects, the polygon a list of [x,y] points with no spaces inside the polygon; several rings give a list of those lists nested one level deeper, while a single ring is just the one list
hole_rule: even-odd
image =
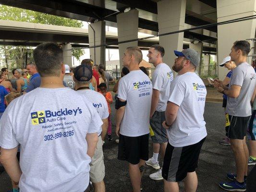
[{"label": "white Buckley's t-shirt on the man wearing a black armband", "polygon": [[141,70],[131,71],[119,81],[118,97],[126,100],[120,133],[137,137],[149,133],[152,83]]}]

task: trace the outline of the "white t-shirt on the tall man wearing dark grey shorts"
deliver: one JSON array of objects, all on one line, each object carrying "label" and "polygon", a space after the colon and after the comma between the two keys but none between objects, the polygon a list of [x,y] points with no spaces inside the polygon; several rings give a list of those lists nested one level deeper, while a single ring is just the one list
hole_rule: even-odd
[{"label": "white t-shirt on the tall man wearing dark grey shorts", "polygon": [[160,91],[156,111],[165,111],[172,80],[173,73],[171,68],[165,63],[158,64],[152,75],[153,89]]}]

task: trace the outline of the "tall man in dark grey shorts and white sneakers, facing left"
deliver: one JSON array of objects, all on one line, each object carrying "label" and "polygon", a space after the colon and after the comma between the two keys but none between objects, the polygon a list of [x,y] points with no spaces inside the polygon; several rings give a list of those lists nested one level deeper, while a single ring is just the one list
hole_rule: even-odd
[{"label": "tall man in dark grey shorts and white sneakers, facing left", "polygon": [[[156,67],[152,75],[153,93],[150,110],[150,134],[153,142],[153,157],[146,161],[146,164],[152,168],[159,169],[158,153],[164,158],[167,146],[167,133],[163,128],[162,122],[165,120],[165,109],[170,94],[171,81],[173,74],[171,68],[163,63],[164,48],[160,45],[153,45],[148,50],[148,62]],[[162,169],[152,173],[149,177],[153,180],[162,180]]]}]

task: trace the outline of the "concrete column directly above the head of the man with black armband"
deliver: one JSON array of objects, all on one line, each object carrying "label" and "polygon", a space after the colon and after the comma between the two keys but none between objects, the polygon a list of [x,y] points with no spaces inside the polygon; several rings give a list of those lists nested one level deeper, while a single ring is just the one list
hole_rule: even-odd
[{"label": "concrete column directly above the head of the man with black armband", "polygon": [[[132,9],[129,12],[122,12],[116,16],[118,41],[125,41],[138,38],[139,11]],[[118,45],[120,69],[122,69],[122,56],[127,47],[138,46],[138,41],[122,43]]]}]

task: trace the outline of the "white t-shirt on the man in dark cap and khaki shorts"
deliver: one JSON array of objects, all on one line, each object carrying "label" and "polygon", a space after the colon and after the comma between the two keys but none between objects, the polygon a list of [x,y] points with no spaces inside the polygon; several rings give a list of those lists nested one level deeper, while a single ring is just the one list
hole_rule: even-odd
[{"label": "white t-shirt on the man in dark cap and khaki shorts", "polygon": [[[109,108],[108,108],[108,103],[106,98],[96,92],[93,91],[91,89],[80,89],[77,90],[78,93],[80,93],[81,95],[85,96],[93,105],[93,107],[95,107],[95,109],[97,110],[99,117],[103,120],[103,119],[107,119],[109,117]],[[100,131],[98,132],[98,136],[101,134],[102,129],[100,128]]]}]

